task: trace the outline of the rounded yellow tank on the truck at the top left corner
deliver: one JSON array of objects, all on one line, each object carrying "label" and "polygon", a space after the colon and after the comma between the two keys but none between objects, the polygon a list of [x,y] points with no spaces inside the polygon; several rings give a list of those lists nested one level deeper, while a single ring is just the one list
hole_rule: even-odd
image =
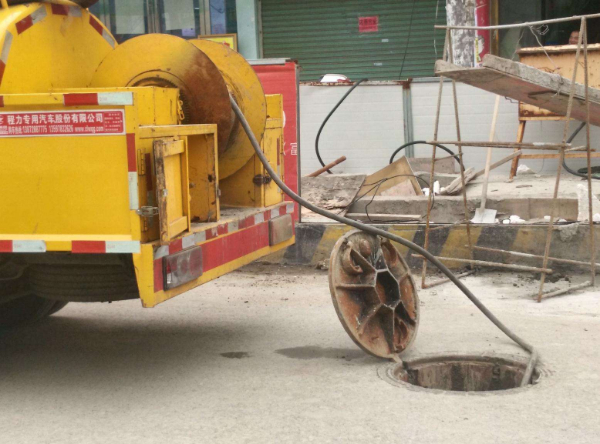
[{"label": "rounded yellow tank on the truck at the top left corner", "polygon": [[0,9],[0,93],[86,87],[115,46],[105,26],[71,2]]}]

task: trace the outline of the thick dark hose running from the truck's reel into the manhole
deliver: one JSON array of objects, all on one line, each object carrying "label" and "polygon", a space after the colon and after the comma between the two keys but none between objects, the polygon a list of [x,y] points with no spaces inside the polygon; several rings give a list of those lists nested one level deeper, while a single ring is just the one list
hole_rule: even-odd
[{"label": "thick dark hose running from the truck's reel into the manhole", "polygon": [[260,147],[260,143],[258,143],[258,140],[256,140],[256,137],[254,136],[254,133],[252,132],[252,129],[250,128],[250,125],[248,124],[248,121],[246,120],[246,118],[244,117],[244,113],[242,113],[242,110],[240,110],[239,106],[237,105],[237,103],[235,102],[235,100],[233,99],[233,97],[230,97],[231,100],[231,106],[233,108],[233,111],[235,112],[235,114],[237,115],[238,119],[240,120],[240,123],[242,124],[242,127],[244,128],[244,131],[246,132],[246,134],[248,135],[248,138],[250,139],[250,142],[252,143],[252,146],[254,147],[254,151],[256,152],[256,156],[260,159],[260,161],[262,162],[265,170],[267,170],[267,172],[269,173],[269,175],[271,176],[271,178],[275,181],[275,183],[279,186],[279,188],[281,188],[281,190],[287,194],[289,197],[291,197],[295,202],[297,202],[299,205],[311,210],[314,213],[320,214],[321,216],[325,216],[329,219],[335,220],[337,222],[340,222],[342,224],[345,225],[349,225],[351,227],[357,228],[359,230],[362,230],[366,233],[370,233],[373,234],[375,236],[381,236],[381,237],[385,237],[391,241],[397,242],[401,245],[404,245],[405,247],[409,248],[412,251],[415,251],[417,253],[419,253],[420,255],[424,256],[429,262],[431,262],[433,265],[435,265],[442,273],[444,273],[448,279],[450,281],[452,281],[454,283],[454,285],[456,285],[464,294],[465,296],[467,296],[471,302],[473,302],[473,304],[475,304],[475,306],[490,320],[494,323],[494,325],[496,327],[498,327],[500,330],[502,330],[502,332],[508,336],[510,339],[512,339],[514,342],[516,342],[519,346],[521,346],[524,350],[528,351],[529,353],[531,353],[531,358],[529,359],[529,363],[527,364],[527,369],[525,370],[525,375],[523,377],[523,380],[521,381],[521,386],[526,386],[529,384],[529,381],[531,380],[531,375],[533,374],[533,370],[535,368],[535,365],[537,363],[538,360],[538,352],[537,350],[530,345],[528,342],[526,342],[525,340],[521,339],[519,336],[517,336],[515,333],[513,333],[508,327],[506,327],[490,310],[488,310],[488,308],[483,305],[483,303],[477,299],[477,297],[471,292],[471,290],[469,290],[467,288],[467,286],[465,284],[463,284],[455,275],[454,273],[452,273],[452,271],[450,271],[450,269],[448,267],[446,267],[443,263],[441,263],[439,260],[437,260],[435,258],[435,256],[433,256],[429,251],[427,251],[426,249],[420,247],[419,245],[406,240],[400,236],[396,236],[395,234],[392,233],[388,233],[387,231],[381,230],[379,228],[375,228],[371,225],[366,225],[360,222],[357,222],[355,220],[352,219],[347,219],[345,217],[342,216],[338,216],[337,214],[331,213],[327,210],[323,210],[322,208],[319,208],[313,204],[311,204],[310,202],[308,202],[307,200],[303,199],[302,197],[298,196],[296,193],[294,193],[282,180],[281,178],[277,175],[277,173],[275,172],[275,170],[271,167],[271,164],[269,163],[269,160],[266,158],[266,156],[264,155],[264,153],[262,152],[262,149]]}]

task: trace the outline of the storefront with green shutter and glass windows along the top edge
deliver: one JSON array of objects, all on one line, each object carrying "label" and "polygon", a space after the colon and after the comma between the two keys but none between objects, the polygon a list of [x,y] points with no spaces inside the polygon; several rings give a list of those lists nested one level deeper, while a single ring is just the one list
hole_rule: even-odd
[{"label": "storefront with green shutter and glass windows along the top edge", "polygon": [[[454,1],[454,0],[453,0]],[[461,0],[478,25],[544,20],[600,12],[598,0]],[[183,38],[237,34],[249,59],[292,58],[303,81],[328,73],[352,80],[430,77],[442,57],[446,0],[100,0],[91,10],[119,42],[163,32]],[[600,42],[590,20],[590,43]],[[567,44],[575,22],[533,29],[479,32],[476,49],[516,56],[520,47]]]}]

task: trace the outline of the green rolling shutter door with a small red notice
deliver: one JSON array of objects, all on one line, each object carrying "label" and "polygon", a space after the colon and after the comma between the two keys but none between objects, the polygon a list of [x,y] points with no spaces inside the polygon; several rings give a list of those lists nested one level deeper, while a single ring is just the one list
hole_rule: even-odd
[{"label": "green rolling shutter door with a small red notice", "polygon": [[444,31],[433,26],[446,23],[445,6],[445,0],[262,0],[263,56],[298,60],[303,81],[328,73],[352,80],[432,76],[444,46]]}]

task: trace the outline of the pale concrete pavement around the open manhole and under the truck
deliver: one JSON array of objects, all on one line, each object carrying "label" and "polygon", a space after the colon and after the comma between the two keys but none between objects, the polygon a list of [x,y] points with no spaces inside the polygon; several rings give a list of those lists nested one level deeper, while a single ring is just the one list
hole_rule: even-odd
[{"label": "pale concrete pavement around the open manhole and under the truck", "polygon": [[[326,273],[255,265],[152,310],[70,304],[0,338],[0,442],[597,443],[600,292],[536,304],[529,275],[465,282],[539,348],[550,374],[539,385],[392,386],[344,332]],[[406,357],[525,356],[454,287],[419,294]]]}]

